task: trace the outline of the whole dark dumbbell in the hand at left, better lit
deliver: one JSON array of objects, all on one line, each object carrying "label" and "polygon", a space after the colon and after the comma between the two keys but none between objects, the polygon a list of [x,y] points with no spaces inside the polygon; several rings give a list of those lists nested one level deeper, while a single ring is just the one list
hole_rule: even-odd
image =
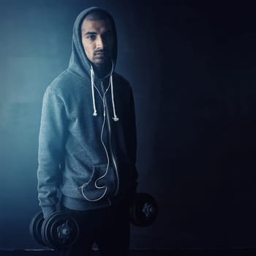
[{"label": "whole dark dumbbell in the hand at left, better lit", "polygon": [[75,243],[79,235],[78,223],[65,214],[55,211],[44,219],[39,211],[29,225],[29,232],[37,243],[52,249],[67,249]]}]

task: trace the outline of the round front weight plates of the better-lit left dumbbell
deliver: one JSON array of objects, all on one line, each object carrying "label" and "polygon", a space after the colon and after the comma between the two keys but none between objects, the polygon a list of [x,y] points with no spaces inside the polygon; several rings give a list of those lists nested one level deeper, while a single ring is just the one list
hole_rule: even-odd
[{"label": "round front weight plates of the better-lit left dumbbell", "polygon": [[79,235],[78,223],[64,211],[56,211],[42,224],[42,241],[53,249],[67,249]]}]

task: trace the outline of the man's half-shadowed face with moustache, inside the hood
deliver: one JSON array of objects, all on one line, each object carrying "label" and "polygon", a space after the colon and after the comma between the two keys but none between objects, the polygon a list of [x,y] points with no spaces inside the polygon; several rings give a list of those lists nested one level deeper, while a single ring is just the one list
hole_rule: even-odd
[{"label": "man's half-shadowed face with moustache, inside the hood", "polygon": [[113,50],[113,31],[110,21],[83,20],[81,26],[82,44],[87,58],[96,66],[110,61]]}]

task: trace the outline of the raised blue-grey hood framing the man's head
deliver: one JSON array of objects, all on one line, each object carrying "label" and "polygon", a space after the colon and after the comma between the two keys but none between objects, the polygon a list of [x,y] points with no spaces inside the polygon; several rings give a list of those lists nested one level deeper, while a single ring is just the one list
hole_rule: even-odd
[{"label": "raised blue-grey hood framing the man's head", "polygon": [[[83,19],[88,15],[90,12],[101,10],[106,12],[105,10],[100,9],[99,7],[90,7],[86,10],[80,12],[78,17],[75,19],[75,23],[73,26],[73,35],[72,35],[72,53],[69,60],[69,67],[68,69],[74,72],[76,75],[80,77],[91,76],[91,62],[86,57],[86,53],[83,50],[82,39],[81,39],[81,32],[80,27],[83,22]],[[113,44],[113,66],[116,66],[116,56],[117,56],[117,36],[116,36],[116,24],[110,15],[109,12],[106,12],[110,18],[110,23],[113,29],[113,36],[114,36],[114,44]]]}]

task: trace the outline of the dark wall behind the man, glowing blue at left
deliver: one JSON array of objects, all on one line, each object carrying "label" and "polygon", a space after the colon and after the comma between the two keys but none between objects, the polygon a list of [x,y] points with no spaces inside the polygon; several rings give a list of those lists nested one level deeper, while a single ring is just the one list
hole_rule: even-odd
[{"label": "dark wall behind the man, glowing blue at left", "polygon": [[67,68],[72,25],[113,14],[116,70],[132,84],[139,192],[159,217],[131,248],[255,247],[255,7],[246,1],[0,0],[0,249],[41,248],[42,95]]}]

